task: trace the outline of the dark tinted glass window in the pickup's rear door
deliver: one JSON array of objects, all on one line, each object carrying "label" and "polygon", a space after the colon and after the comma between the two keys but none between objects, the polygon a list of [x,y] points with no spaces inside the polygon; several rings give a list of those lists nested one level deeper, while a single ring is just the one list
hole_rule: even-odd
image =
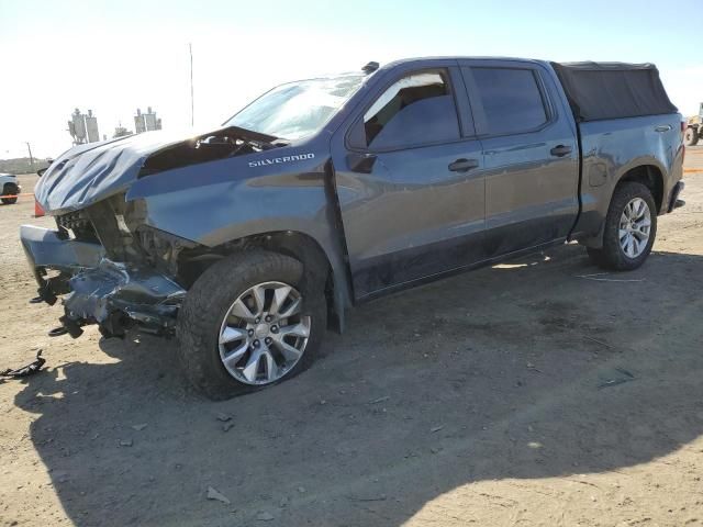
[{"label": "dark tinted glass window in the pickup's rear door", "polygon": [[518,134],[548,121],[544,97],[532,69],[472,67],[478,99],[490,135]]}]

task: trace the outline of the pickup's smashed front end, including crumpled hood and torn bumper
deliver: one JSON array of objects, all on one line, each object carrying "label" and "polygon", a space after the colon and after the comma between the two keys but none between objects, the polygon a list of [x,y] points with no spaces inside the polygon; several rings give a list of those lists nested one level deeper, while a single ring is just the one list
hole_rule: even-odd
[{"label": "pickup's smashed front end, including crumpled hood and torn bumper", "polygon": [[[38,283],[34,301],[53,305],[58,296],[63,300],[62,326],[52,334],[77,337],[82,326],[99,324],[103,335],[122,336],[137,324],[171,335],[192,282],[183,270],[196,272],[213,256],[200,255],[199,244],[147,225],[144,201],[126,200],[126,193],[142,178],[283,145],[276,137],[227,126],[188,138],[140,134],[77,146],[59,156],[35,188],[56,229],[24,225],[20,233]],[[185,264],[179,260],[183,251],[193,257]]]}]

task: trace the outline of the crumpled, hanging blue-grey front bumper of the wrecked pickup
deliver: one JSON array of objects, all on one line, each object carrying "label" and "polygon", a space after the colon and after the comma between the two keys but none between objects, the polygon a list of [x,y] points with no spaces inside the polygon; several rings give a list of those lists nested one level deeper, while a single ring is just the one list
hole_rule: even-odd
[{"label": "crumpled, hanging blue-grey front bumper of the wrecked pickup", "polygon": [[80,326],[100,324],[110,334],[136,323],[155,333],[170,333],[186,291],[150,268],[105,258],[100,244],[78,242],[58,231],[23,225],[20,239],[40,298],[53,305],[63,296],[60,322],[77,337]]}]

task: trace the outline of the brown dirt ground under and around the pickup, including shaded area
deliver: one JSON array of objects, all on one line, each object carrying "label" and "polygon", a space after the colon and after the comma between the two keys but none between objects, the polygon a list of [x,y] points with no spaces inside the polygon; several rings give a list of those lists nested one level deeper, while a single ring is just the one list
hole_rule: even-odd
[{"label": "brown dirt ground under and around the pickup, including shaded area", "polygon": [[0,369],[47,359],[0,381],[0,525],[703,525],[703,173],[685,176],[637,271],[583,278],[601,271],[568,245],[378,300],[305,373],[221,403],[186,386],[174,341],[49,339],[60,309],[27,303],[18,227],[52,220],[0,206]]}]

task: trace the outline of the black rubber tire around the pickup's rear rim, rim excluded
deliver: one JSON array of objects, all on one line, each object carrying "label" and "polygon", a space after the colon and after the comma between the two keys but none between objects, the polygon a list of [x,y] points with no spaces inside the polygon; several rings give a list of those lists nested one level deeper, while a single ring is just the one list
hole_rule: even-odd
[{"label": "black rubber tire around the pickup's rear rim, rim excluded", "polygon": [[[643,199],[649,208],[651,225],[649,228],[649,239],[645,249],[636,258],[631,258],[625,254],[620,243],[620,220],[625,206],[635,198]],[[613,192],[605,226],[603,229],[603,247],[600,249],[588,247],[588,254],[593,264],[603,269],[613,271],[631,271],[641,266],[655,243],[657,236],[657,206],[651,192],[647,187],[634,181],[626,181],[618,184]]]}]

